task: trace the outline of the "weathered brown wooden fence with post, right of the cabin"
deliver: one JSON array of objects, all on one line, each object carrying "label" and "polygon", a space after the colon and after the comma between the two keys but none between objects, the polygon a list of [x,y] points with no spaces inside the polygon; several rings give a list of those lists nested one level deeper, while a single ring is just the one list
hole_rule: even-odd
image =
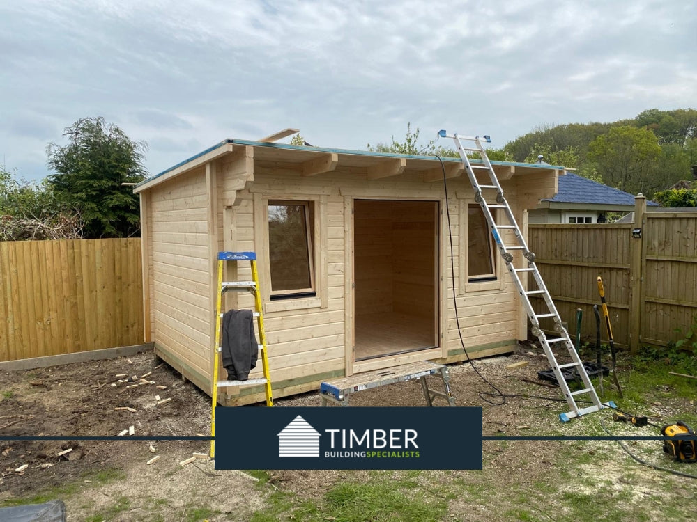
[{"label": "weathered brown wooden fence with post, right of the cabin", "polygon": [[[582,338],[595,342],[592,305],[602,276],[615,342],[632,350],[679,339],[675,329],[687,331],[697,315],[697,212],[645,212],[637,198],[634,216],[634,224],[528,226],[530,250],[569,331],[581,308]],[[541,299],[534,304],[545,310]]]}]

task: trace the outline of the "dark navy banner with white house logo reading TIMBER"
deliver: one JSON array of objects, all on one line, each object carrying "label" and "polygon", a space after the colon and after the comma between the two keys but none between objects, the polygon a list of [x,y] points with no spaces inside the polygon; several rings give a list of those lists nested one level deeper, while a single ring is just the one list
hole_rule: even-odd
[{"label": "dark navy banner with white house logo reading TIMBER", "polygon": [[482,469],[482,409],[215,409],[216,469]]}]

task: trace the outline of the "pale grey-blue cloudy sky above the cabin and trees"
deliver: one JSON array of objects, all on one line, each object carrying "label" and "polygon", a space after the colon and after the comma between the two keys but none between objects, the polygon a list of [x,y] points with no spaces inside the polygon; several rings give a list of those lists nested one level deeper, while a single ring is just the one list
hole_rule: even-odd
[{"label": "pale grey-blue cloudy sky above the cabin and trees", "polygon": [[45,177],[47,143],[86,116],[146,141],[151,173],[286,127],[365,149],[411,122],[498,148],[697,107],[696,27],[694,1],[3,1],[0,161]]}]

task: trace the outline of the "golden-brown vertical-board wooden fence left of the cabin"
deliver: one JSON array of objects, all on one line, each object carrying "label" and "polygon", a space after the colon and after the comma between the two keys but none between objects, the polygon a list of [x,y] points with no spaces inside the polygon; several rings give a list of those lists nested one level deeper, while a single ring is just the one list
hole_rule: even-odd
[{"label": "golden-brown vertical-board wooden fence left of the cabin", "polygon": [[0,361],[143,342],[141,242],[0,242]]}]

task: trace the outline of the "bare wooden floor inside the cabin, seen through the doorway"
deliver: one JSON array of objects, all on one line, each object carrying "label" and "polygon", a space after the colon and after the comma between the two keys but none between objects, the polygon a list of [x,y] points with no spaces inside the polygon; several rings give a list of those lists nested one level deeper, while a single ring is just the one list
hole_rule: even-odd
[{"label": "bare wooden floor inside the cabin, seen through the doorway", "polygon": [[436,346],[434,319],[398,313],[355,317],[355,361]]}]

